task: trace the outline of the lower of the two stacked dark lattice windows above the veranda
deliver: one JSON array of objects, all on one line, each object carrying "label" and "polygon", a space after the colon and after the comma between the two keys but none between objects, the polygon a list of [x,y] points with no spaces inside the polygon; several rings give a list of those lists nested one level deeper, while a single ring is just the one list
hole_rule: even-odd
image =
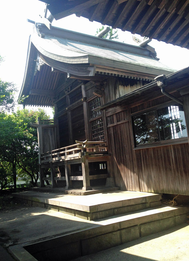
[{"label": "lower of the two stacked dark lattice windows above the veranda", "polygon": [[92,140],[104,140],[104,129],[103,129],[103,122],[102,118],[97,119],[91,122],[92,127]]}]

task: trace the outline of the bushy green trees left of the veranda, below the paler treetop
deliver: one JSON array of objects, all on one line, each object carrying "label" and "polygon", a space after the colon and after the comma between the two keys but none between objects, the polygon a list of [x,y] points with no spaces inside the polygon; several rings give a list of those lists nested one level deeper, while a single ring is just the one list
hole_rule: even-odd
[{"label": "bushy green trees left of the veranda, below the paler treetop", "polygon": [[[37,129],[31,127],[31,122],[37,122],[38,117],[48,119],[44,110],[17,110],[12,114],[0,114],[0,162],[11,168],[11,179],[16,188],[17,174],[29,176],[33,186],[36,186],[38,167],[38,137]],[[5,168],[2,168],[2,174]],[[10,173],[7,173],[10,175]],[[2,175],[4,176],[4,175]],[[4,182],[5,183],[5,182]]]}]

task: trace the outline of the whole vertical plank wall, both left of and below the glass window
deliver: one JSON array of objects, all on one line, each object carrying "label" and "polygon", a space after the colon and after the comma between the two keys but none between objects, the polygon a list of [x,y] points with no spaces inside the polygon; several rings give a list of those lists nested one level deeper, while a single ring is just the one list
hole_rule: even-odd
[{"label": "whole vertical plank wall, both left of and below the glass window", "polygon": [[[117,83],[112,81],[113,84]],[[111,93],[110,89],[106,90],[106,102],[115,97],[115,93]],[[169,101],[169,98],[163,96],[133,107],[132,112]],[[120,189],[136,191],[137,178],[139,190],[143,192],[189,195],[188,142],[134,149],[129,111],[127,109],[110,115],[109,110],[107,114],[108,149],[112,157],[115,184]],[[134,158],[136,161],[133,161]]]}]

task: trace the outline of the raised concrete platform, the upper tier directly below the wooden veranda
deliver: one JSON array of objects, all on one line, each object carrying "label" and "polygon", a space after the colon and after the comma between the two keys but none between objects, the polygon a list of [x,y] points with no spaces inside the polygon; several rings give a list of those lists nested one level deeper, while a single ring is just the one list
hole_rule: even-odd
[{"label": "raised concrete platform, the upper tier directly below the wooden veranda", "polygon": [[121,190],[82,197],[36,191],[12,195],[29,205],[53,209],[87,220],[97,220],[161,205],[161,194]]}]

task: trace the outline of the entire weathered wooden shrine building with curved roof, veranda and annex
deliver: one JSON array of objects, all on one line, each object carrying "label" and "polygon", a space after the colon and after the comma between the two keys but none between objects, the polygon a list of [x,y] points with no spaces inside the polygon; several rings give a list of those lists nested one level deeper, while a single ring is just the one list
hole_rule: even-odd
[{"label": "entire weathered wooden shrine building with curved roof, veranda and annex", "polygon": [[35,23],[19,97],[55,108],[33,124],[41,186],[189,195],[189,69],[149,49]]}]

